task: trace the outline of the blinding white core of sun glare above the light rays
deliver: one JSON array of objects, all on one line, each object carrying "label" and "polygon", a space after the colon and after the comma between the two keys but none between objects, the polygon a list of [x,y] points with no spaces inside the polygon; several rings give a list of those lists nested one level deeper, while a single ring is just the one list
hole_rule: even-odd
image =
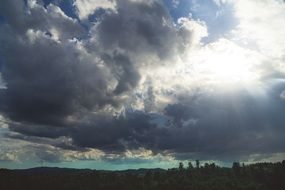
[{"label": "blinding white core of sun glare above the light rays", "polygon": [[[205,53],[206,52],[206,53]],[[193,68],[199,78],[208,83],[251,84],[258,79],[258,71],[254,69],[254,55],[240,51],[237,47],[228,49],[204,51],[202,59],[193,63]]]}]

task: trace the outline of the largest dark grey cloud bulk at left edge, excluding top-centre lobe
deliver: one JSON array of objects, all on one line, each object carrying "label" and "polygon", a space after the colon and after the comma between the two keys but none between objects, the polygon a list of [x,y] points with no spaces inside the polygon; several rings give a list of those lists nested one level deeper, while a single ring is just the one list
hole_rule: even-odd
[{"label": "largest dark grey cloud bulk at left edge, excluding top-centre lobe", "polygon": [[7,85],[1,91],[2,112],[16,121],[59,124],[81,106],[111,102],[105,72],[75,43],[51,39],[58,33],[60,40],[75,37],[81,26],[53,5],[25,6],[23,1],[1,2],[7,20],[0,35]]}]

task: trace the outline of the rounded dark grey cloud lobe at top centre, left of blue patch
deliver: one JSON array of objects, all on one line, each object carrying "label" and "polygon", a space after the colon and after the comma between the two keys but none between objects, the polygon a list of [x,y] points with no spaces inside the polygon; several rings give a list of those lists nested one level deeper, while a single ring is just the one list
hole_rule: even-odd
[{"label": "rounded dark grey cloud lobe at top centre, left of blue patch", "polygon": [[182,36],[160,1],[118,0],[117,12],[104,14],[100,20],[93,30],[104,50],[121,49],[135,56],[155,54],[167,59],[181,46]]}]

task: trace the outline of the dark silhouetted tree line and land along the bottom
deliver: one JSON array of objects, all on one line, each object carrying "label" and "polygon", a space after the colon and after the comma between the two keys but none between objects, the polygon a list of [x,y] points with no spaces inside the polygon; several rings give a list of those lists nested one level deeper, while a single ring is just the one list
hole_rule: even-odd
[{"label": "dark silhouetted tree line and land along the bottom", "polygon": [[284,190],[285,160],[277,163],[240,164],[231,168],[215,163],[177,168],[125,171],[7,170],[0,169],[3,190]]}]

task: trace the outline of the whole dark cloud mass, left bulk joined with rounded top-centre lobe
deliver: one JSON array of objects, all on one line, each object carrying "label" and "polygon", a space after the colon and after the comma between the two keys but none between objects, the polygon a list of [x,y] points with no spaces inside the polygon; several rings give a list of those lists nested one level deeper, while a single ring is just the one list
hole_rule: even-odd
[{"label": "whole dark cloud mass, left bulk joined with rounded top-centre lobe", "polygon": [[[16,121],[61,125],[78,110],[118,106],[117,96],[140,80],[141,63],[134,59],[140,52],[171,55],[176,29],[167,25],[170,16],[157,1],[118,1],[117,6],[95,24],[93,43],[68,40],[81,26],[55,5],[2,2],[7,21],[0,36],[7,86],[2,112]],[[86,53],[85,44],[95,48]]]}]

